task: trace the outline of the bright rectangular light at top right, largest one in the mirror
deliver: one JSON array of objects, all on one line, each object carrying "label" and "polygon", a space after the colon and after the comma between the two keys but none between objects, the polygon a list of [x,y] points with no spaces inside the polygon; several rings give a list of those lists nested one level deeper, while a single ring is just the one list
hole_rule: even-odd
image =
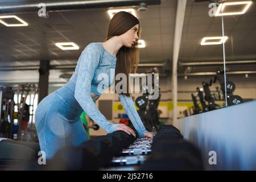
[{"label": "bright rectangular light at top right, largest one in the mirror", "polygon": [[[244,14],[250,7],[252,1],[239,1],[239,2],[224,2],[218,6],[216,11],[216,16],[226,16],[226,15],[241,15]],[[225,7],[228,6],[242,6],[242,11],[234,11],[234,12],[225,12]]]}]

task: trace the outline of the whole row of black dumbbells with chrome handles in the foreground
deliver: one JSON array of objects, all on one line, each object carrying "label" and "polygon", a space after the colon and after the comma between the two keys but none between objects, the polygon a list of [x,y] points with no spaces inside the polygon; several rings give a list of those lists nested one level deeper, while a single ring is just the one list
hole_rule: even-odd
[{"label": "whole row of black dumbbells with chrome handles in the foreground", "polygon": [[24,170],[169,170],[203,169],[200,151],[180,131],[165,125],[151,139],[135,139],[123,131],[98,136],[79,146],[65,146],[47,165],[27,163]]}]

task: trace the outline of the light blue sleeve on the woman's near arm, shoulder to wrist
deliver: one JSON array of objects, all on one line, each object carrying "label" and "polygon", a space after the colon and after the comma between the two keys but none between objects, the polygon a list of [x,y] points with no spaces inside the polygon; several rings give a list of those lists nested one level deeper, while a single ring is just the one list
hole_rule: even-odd
[{"label": "light blue sleeve on the woman's near arm, shoulder to wrist", "polygon": [[110,123],[101,114],[90,95],[93,75],[100,61],[100,56],[101,49],[94,43],[89,44],[82,51],[76,81],[75,98],[93,121],[100,125],[106,132],[113,133],[118,124]]}]

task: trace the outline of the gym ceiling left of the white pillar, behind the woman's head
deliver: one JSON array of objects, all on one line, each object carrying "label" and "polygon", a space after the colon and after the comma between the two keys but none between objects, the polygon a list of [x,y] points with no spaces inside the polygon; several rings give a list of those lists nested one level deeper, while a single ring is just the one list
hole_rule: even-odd
[{"label": "gym ceiling left of the white pillar, behind the woman's head", "polygon": [[[137,7],[135,7],[137,9]],[[90,42],[104,42],[109,23],[107,8],[49,13],[39,18],[36,13],[18,14],[27,27],[0,24],[0,64],[13,65],[38,60],[77,60]],[[140,49],[141,63],[162,63],[172,58],[176,1],[148,6],[146,13],[136,11],[146,48]],[[79,50],[63,51],[56,42],[75,42]],[[26,61],[26,62],[24,62]]]}]

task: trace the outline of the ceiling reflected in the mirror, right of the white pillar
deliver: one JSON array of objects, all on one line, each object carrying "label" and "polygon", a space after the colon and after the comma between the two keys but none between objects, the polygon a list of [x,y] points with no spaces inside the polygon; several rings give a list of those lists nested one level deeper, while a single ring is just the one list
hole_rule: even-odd
[{"label": "ceiling reflected in the mirror, right of the white pillar", "polygon": [[[223,60],[222,45],[201,46],[205,36],[222,36],[221,16],[210,17],[206,2],[187,1],[181,61]],[[227,60],[256,59],[256,6],[255,1],[243,15],[224,16],[224,32],[229,39],[225,43]]]}]

